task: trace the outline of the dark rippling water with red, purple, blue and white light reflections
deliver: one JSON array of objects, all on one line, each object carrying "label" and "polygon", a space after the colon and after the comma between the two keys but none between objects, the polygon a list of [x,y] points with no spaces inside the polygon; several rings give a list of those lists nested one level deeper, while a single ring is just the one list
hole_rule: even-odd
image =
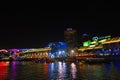
[{"label": "dark rippling water with red, purple, blue and white light reflections", "polygon": [[120,80],[120,62],[0,62],[0,80]]}]

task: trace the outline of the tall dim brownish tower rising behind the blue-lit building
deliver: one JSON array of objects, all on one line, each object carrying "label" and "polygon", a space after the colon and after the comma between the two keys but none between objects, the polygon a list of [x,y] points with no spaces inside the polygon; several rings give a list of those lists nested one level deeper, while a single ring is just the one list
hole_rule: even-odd
[{"label": "tall dim brownish tower rising behind the blue-lit building", "polygon": [[64,31],[65,42],[68,44],[68,50],[72,50],[77,47],[77,31],[72,28],[67,28]]}]

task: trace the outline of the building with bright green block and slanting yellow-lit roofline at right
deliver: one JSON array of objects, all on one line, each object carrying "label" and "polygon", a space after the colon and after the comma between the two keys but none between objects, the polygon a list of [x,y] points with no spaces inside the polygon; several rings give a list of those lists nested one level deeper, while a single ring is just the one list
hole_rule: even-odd
[{"label": "building with bright green block and slanting yellow-lit roofline at right", "polygon": [[102,55],[120,55],[120,37],[95,36],[92,40],[83,42],[83,47],[80,47],[78,51],[91,51]]}]

